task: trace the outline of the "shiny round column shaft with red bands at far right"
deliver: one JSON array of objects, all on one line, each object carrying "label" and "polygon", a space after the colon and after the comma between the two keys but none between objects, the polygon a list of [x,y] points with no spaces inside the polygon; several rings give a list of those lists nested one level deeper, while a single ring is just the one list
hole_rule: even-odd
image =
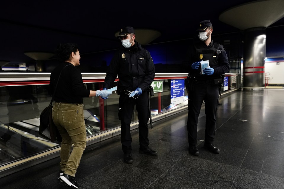
[{"label": "shiny round column shaft with red bands at far right", "polygon": [[244,30],[243,89],[264,90],[266,28]]}]

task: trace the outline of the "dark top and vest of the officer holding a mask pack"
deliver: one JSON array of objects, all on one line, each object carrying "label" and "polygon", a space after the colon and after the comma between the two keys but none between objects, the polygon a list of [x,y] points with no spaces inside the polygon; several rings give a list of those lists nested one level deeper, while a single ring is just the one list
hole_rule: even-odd
[{"label": "dark top and vest of the officer holding a mask pack", "polygon": [[[201,66],[199,66],[199,69],[191,68],[194,62],[201,60],[209,60],[209,66],[214,69],[212,75],[201,75]],[[214,43],[213,40],[208,46],[203,41],[200,41],[189,48],[184,63],[188,64],[189,75],[194,76],[199,81],[220,78],[222,74],[227,73],[230,69],[225,48],[218,43]]]}]

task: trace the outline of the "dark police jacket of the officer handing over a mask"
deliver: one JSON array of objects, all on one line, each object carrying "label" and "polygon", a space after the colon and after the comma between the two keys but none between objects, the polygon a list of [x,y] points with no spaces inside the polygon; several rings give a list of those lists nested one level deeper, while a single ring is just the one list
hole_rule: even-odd
[{"label": "dark police jacket of the officer handing over a mask", "polygon": [[120,46],[106,71],[104,87],[109,89],[118,75],[120,90],[134,91],[140,87],[145,91],[153,82],[155,67],[148,50],[135,41],[130,48]]}]

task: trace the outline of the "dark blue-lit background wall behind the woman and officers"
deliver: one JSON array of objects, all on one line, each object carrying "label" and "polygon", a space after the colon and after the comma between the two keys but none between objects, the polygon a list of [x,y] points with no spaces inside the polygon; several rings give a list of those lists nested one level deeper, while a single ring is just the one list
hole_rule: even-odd
[{"label": "dark blue-lit background wall behind the woman and officers", "polygon": [[[284,26],[267,28],[267,57],[284,57],[284,46],[283,43],[281,43],[283,37],[281,33],[279,33],[279,31],[283,30]],[[146,45],[145,48],[151,53],[155,63],[156,73],[187,73],[182,65],[182,61],[185,57],[188,46],[198,40],[198,38],[188,38],[184,40]],[[234,68],[235,65],[232,62],[241,60],[243,57],[243,32],[240,31],[214,35],[213,31],[212,40],[225,47],[228,58],[232,64],[231,67]],[[120,41],[117,40],[117,47],[119,47],[120,44]],[[81,52],[79,68],[82,72],[106,72],[107,66],[109,65],[116,50],[117,49],[85,54]],[[35,63],[35,61],[30,62],[30,64],[33,63]],[[47,72],[51,72],[56,65],[57,60],[54,58],[45,61]]]}]

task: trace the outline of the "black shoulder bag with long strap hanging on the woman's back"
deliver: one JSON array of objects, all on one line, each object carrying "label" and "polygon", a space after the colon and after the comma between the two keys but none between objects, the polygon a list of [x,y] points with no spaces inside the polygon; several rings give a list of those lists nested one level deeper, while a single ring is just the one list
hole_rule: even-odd
[{"label": "black shoulder bag with long strap hanging on the woman's back", "polygon": [[[69,65],[66,65],[66,66],[69,66]],[[64,66],[64,68],[66,66]],[[41,112],[40,120],[39,120],[40,124],[39,124],[38,134],[40,136],[42,136],[44,139],[50,140],[51,142],[54,142],[56,140],[59,141],[59,142],[62,141],[61,135],[60,135],[56,125],[53,123],[53,119],[52,119],[52,102],[54,100],[55,92],[56,92],[56,89],[57,89],[57,84],[59,82],[59,78],[60,78],[60,75],[62,73],[62,70],[59,74],[59,77],[58,77],[58,80],[57,80],[57,83],[56,83],[50,104],[49,104],[49,106],[44,108],[44,110]]]}]

